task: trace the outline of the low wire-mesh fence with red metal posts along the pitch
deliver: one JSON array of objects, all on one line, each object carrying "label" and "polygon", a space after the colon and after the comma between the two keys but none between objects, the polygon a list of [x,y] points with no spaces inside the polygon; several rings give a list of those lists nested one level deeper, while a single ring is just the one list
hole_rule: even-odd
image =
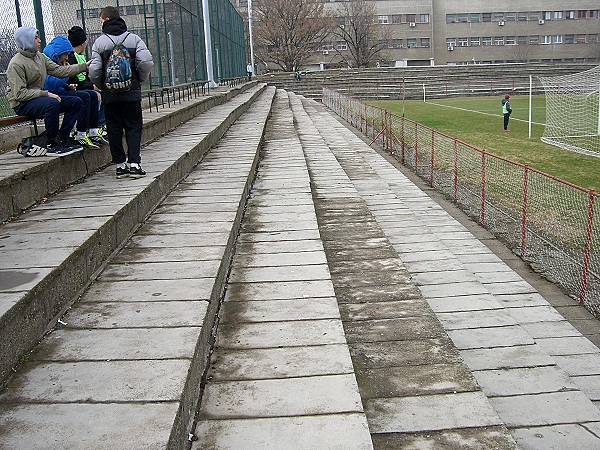
[{"label": "low wire-mesh fence with red metal posts along the pitch", "polygon": [[333,90],[323,103],[600,317],[598,193]]}]

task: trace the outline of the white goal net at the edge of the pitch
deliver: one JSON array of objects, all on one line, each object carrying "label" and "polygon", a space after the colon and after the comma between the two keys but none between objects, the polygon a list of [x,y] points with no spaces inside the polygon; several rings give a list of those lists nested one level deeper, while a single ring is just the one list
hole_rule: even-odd
[{"label": "white goal net at the edge of the pitch", "polygon": [[600,66],[572,75],[539,78],[546,93],[542,141],[600,157]]}]

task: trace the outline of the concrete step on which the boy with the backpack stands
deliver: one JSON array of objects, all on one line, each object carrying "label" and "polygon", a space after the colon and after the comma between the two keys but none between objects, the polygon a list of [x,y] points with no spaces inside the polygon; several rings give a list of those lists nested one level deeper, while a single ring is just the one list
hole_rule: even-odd
[{"label": "concrete step on which the boy with the backpack stands", "polygon": [[[148,144],[146,178],[119,182],[108,167],[0,227],[0,385],[264,88],[233,96]],[[45,168],[49,177],[77,164],[66,158]]]}]

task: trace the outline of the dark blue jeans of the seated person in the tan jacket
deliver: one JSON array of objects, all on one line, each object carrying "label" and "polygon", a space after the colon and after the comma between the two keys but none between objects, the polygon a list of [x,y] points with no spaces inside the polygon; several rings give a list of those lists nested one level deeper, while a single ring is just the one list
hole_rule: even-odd
[{"label": "dark blue jeans of the seated person in the tan jacket", "polygon": [[[77,97],[61,97],[61,101],[50,97],[36,97],[20,103],[15,112],[20,116],[31,116],[44,119],[46,135],[53,140],[60,134],[61,139],[66,139],[75,126],[81,112],[81,99]],[[60,129],[60,113],[65,113]]]}]

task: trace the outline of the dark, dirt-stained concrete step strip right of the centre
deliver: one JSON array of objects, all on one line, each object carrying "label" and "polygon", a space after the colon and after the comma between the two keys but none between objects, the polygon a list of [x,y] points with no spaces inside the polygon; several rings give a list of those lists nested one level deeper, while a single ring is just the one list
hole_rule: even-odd
[{"label": "dark, dirt-stained concrete step strip right of the centre", "polygon": [[330,150],[349,131],[291,97],[374,448],[517,448],[355,186],[377,180],[358,152]]}]

